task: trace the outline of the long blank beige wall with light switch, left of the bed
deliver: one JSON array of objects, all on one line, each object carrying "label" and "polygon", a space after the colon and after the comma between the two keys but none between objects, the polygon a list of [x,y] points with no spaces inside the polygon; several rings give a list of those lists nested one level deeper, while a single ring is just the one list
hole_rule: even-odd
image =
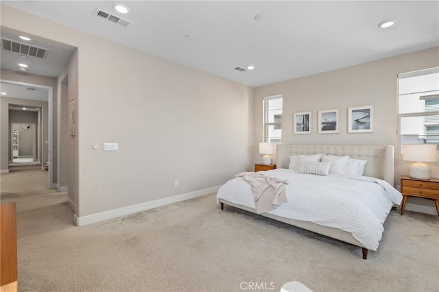
[{"label": "long blank beige wall with light switch, left of the bed", "polygon": [[[77,216],[251,169],[252,88],[3,5],[1,25],[78,47]],[[119,151],[102,151],[104,142]]]}]

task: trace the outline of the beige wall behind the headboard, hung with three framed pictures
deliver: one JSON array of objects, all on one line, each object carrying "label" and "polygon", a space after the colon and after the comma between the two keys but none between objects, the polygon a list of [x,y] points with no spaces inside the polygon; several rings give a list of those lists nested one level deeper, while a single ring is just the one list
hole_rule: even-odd
[{"label": "beige wall behind the headboard, hung with three framed pictures", "polygon": [[[439,48],[434,47],[401,56],[350,66],[317,75],[288,80],[255,89],[254,162],[261,158],[257,143],[262,142],[263,98],[283,95],[283,143],[333,145],[394,145],[397,127],[397,83],[399,73],[439,66]],[[347,133],[347,108],[372,105],[375,108],[374,132]],[[340,134],[317,134],[318,110],[340,109]],[[312,134],[293,134],[293,112],[312,111]],[[438,165],[429,164],[439,177]],[[408,173],[410,162],[397,155],[395,184]],[[434,206],[427,201],[426,204]]]}]

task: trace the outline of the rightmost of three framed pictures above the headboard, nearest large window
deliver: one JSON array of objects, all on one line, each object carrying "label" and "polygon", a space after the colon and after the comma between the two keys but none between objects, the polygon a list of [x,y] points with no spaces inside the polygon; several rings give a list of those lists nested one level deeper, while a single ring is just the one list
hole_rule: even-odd
[{"label": "rightmost of three framed pictures above the headboard, nearest large window", "polygon": [[348,108],[348,133],[373,132],[373,106]]}]

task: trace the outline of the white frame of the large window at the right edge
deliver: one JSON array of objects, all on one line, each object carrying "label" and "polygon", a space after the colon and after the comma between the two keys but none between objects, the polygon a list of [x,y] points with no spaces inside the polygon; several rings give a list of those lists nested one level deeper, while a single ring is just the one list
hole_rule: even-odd
[{"label": "white frame of the large window at the right edge", "polygon": [[423,112],[411,112],[411,113],[406,113],[406,114],[399,114],[399,80],[401,80],[403,78],[407,78],[407,77],[429,75],[429,74],[438,73],[438,72],[439,72],[439,67],[435,67],[435,68],[430,68],[430,69],[424,69],[424,70],[419,70],[419,71],[398,74],[398,78],[397,78],[398,95],[397,95],[397,101],[396,101],[396,113],[398,114],[398,121],[397,121],[398,129],[396,131],[396,136],[397,136],[396,156],[397,157],[402,157],[402,152],[403,152],[403,149],[401,149],[401,119],[403,119],[405,117],[428,117],[428,116],[437,116],[438,115],[438,112],[435,112],[435,111],[423,111]]}]

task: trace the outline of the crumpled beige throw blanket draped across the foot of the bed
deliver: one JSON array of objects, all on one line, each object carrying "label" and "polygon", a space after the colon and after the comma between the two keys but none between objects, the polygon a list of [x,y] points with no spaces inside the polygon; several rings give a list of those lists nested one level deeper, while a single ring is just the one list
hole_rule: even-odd
[{"label": "crumpled beige throw blanket draped across the foot of the bed", "polygon": [[241,172],[235,175],[235,178],[239,177],[250,184],[258,214],[274,210],[276,206],[287,202],[285,193],[287,180],[254,172]]}]

